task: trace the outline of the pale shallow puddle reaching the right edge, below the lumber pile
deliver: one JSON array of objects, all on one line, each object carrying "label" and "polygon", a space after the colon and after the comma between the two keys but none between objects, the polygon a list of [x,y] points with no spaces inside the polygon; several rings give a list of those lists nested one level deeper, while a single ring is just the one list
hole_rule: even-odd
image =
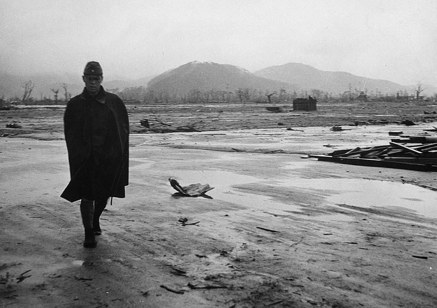
[{"label": "pale shallow puddle reaching the right edge, below the lumber pile", "polygon": [[437,192],[413,184],[364,179],[292,179],[287,186],[331,193],[327,201],[359,207],[402,207],[437,218]]}]

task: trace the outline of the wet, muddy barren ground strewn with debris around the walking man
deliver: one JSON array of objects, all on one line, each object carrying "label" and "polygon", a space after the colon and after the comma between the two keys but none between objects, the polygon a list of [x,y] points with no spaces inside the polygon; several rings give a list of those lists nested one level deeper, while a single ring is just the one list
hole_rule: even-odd
[{"label": "wet, muddy barren ground strewn with debris around the walking man", "polygon": [[[423,188],[437,174],[302,158],[429,133],[437,106],[278,106],[128,106],[127,197],[104,212],[94,249],[78,203],[59,197],[64,109],[0,111],[0,306],[437,306],[437,192]],[[181,197],[168,178],[215,188]]]}]

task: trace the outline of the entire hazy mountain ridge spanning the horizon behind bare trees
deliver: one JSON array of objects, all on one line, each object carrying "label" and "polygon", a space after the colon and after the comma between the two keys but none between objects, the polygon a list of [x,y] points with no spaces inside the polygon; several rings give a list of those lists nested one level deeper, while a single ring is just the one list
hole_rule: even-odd
[{"label": "entire hazy mountain ridge spanning the horizon behind bare trees", "polygon": [[[33,74],[29,76],[0,72],[0,97],[21,98],[23,85],[31,80],[35,86],[32,97],[53,98],[53,90],[58,89],[59,99],[64,98],[63,85],[72,96],[82,92],[84,85],[80,74]],[[290,62],[270,66],[250,72],[244,68],[214,62],[188,62],[159,75],[146,76],[137,80],[111,79],[105,76],[103,84],[107,90],[122,91],[129,87],[144,87],[145,90],[176,93],[183,96],[189,91],[236,91],[238,88],[257,89],[259,91],[297,91],[300,93],[317,89],[333,95],[345,91],[368,91],[394,95],[399,91],[412,94],[417,85],[400,85],[383,79],[370,79],[344,71],[324,71],[311,65]],[[437,87],[423,85],[423,95],[434,95]],[[402,93],[401,93],[402,95]]]}]

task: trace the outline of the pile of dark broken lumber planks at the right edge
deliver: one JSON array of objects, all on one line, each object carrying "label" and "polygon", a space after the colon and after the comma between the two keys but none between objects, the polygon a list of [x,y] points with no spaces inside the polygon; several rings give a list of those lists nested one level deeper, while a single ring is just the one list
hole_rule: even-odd
[{"label": "pile of dark broken lumber planks at the right edge", "polygon": [[309,157],[350,165],[437,171],[437,143],[406,145],[390,142],[389,145],[356,147]]}]

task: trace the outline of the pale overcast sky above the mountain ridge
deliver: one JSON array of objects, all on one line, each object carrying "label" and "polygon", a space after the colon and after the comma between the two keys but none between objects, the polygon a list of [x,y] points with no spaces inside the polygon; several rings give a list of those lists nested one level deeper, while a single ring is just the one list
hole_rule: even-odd
[{"label": "pale overcast sky above the mountain ridge", "polygon": [[137,79],[191,61],[298,62],[437,85],[436,0],[0,0],[1,70]]}]

